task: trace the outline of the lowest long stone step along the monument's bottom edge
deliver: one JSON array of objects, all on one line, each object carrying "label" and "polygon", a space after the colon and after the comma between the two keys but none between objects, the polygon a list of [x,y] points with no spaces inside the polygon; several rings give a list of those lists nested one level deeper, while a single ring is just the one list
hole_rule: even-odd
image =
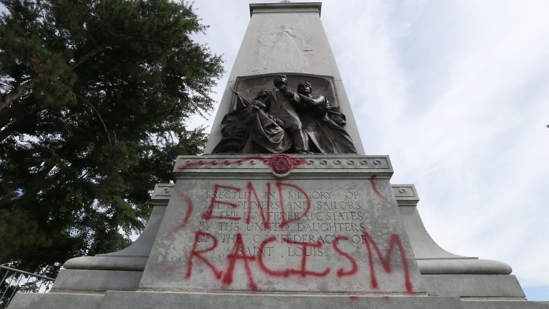
[{"label": "lowest long stone step along the monument's bottom edge", "polygon": [[368,309],[546,309],[547,302],[472,299],[457,296],[356,294],[234,294],[171,291],[107,291],[102,293],[19,293],[10,309],[150,309],[150,308],[368,308]]}]

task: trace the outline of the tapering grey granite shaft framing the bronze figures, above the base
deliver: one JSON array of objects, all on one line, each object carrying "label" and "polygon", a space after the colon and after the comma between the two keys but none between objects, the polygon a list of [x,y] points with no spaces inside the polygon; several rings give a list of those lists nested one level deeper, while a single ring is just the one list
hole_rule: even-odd
[{"label": "tapering grey granite shaft framing the bronze figures, above the base", "polygon": [[286,73],[291,89],[296,90],[300,82],[311,79],[320,89],[333,89],[333,104],[340,107],[347,118],[345,129],[357,152],[365,154],[320,12],[321,3],[313,2],[250,4],[250,23],[229,75],[205,153],[211,153],[219,143],[223,116],[235,108],[231,88],[237,86],[237,79],[245,81],[252,76],[267,75],[270,78],[256,82],[254,90],[261,89],[259,86],[270,90],[274,75]]}]

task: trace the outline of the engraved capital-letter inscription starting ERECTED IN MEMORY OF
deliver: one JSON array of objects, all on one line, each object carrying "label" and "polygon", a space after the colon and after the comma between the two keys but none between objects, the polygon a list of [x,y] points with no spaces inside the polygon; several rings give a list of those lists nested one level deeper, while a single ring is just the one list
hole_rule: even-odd
[{"label": "engraved capital-letter inscription starting ERECTED IN MEMORY OF", "polygon": [[[366,230],[365,214],[358,199],[357,191],[305,192],[279,181],[267,182],[261,189],[251,183],[242,189],[216,184],[214,190],[205,192],[199,230],[215,227],[221,243],[234,243],[238,240],[237,233],[251,232],[254,234],[247,237],[254,244],[271,238],[287,244],[332,244],[341,233],[351,232],[354,234],[348,237],[358,244],[363,243],[361,232]],[[256,256],[260,253],[257,249],[247,252]],[[302,256],[304,252],[323,256],[322,245],[307,248],[287,245],[287,249],[288,256]]]}]

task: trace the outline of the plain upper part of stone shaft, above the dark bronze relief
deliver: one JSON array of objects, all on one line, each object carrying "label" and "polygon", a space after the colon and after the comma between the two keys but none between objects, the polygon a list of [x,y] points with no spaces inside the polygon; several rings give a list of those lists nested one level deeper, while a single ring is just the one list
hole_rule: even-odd
[{"label": "plain upper part of stone shaft, above the dark bronze relief", "polygon": [[332,75],[341,79],[320,20],[320,3],[292,3],[285,8],[275,5],[284,14],[262,9],[265,5],[250,6],[250,23],[229,80],[278,72]]}]

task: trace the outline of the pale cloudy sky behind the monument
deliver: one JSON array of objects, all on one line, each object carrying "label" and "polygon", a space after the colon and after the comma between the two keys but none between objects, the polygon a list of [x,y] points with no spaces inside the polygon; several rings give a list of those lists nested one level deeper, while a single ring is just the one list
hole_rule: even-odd
[{"label": "pale cloudy sky behind the monument", "polygon": [[[194,3],[227,73],[249,1]],[[323,1],[322,23],[367,154],[415,184],[445,250],[508,263],[549,299],[549,2]],[[211,125],[210,119],[194,124]],[[209,131],[210,129],[208,129]]]}]

